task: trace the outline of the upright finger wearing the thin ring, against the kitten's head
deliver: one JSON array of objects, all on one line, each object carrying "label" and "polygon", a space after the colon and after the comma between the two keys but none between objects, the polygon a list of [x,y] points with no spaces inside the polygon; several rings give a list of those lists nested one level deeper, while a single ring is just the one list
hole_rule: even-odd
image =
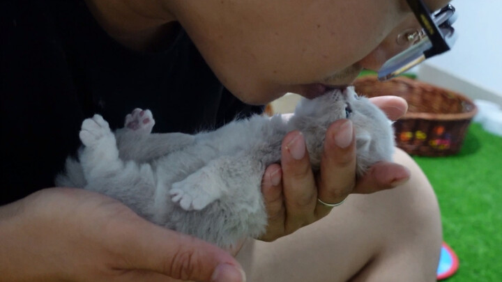
[{"label": "upright finger wearing the thin ring, against the kitten's head", "polygon": [[[356,142],[350,120],[337,120],[328,127],[317,178],[318,198],[325,203],[340,203],[356,183]],[[324,217],[329,207],[317,205],[317,217]]]}]

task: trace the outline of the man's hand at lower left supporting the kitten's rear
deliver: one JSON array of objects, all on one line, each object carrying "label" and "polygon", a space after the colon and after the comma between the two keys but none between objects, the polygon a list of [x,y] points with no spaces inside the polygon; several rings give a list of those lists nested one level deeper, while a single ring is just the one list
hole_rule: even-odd
[{"label": "man's hand at lower left supporting the kitten's rear", "polygon": [[0,281],[243,281],[229,253],[83,189],[0,207],[0,242]]}]

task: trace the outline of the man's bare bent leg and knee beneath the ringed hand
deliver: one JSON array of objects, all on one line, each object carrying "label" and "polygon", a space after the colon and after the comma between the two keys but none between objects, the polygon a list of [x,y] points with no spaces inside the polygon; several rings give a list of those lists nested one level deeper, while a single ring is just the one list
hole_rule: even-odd
[{"label": "man's bare bent leg and knee beneath the ringed hand", "polygon": [[323,219],[274,242],[247,240],[236,257],[248,281],[436,281],[439,206],[427,178],[402,150],[411,179],[352,194]]}]

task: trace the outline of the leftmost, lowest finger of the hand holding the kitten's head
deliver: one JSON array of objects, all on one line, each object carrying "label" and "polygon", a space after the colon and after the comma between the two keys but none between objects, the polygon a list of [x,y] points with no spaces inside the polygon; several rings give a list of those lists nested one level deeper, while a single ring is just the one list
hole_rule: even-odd
[{"label": "leftmost, lowest finger of the hand holding the kitten's head", "polygon": [[286,217],[282,195],[282,169],[279,164],[271,164],[266,169],[261,182],[261,193],[264,196],[268,224],[265,235],[259,239],[271,242],[284,233]]}]

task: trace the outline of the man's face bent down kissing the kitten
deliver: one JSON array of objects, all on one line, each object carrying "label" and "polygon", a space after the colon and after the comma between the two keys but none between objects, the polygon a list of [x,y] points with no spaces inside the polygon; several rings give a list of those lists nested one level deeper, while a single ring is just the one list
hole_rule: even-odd
[{"label": "man's face bent down kissing the kitten", "polygon": [[[190,2],[190,1],[188,1]],[[448,0],[426,1],[435,10]],[[178,20],[218,79],[244,102],[317,97],[378,70],[420,29],[404,0],[197,1]]]}]

